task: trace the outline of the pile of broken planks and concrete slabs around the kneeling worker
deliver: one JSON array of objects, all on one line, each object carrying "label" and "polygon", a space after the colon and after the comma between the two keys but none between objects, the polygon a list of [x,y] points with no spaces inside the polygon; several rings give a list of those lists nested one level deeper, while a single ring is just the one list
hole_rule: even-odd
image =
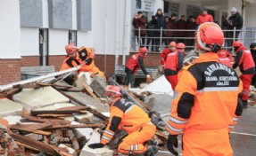
[{"label": "pile of broken planks and concrete slabs around the kneeling worker", "polygon": [[[90,149],[87,146],[99,143],[108,123],[109,106],[104,105],[107,83],[98,75],[90,79],[87,74],[79,76],[78,87],[60,80],[57,77],[45,82],[0,86],[1,155],[113,155],[108,147]],[[119,85],[112,79],[110,83]],[[153,140],[165,150],[163,113],[158,113],[161,109],[154,106],[161,101],[154,100],[157,96],[146,90],[122,92],[152,117],[158,126]]]}]

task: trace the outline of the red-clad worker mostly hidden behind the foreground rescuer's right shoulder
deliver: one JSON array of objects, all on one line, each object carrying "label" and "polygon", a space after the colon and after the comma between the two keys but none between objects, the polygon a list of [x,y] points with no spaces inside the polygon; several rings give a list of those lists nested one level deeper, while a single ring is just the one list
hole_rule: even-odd
[{"label": "red-clad worker mostly hidden behind the foreground rescuer's right shoulder", "polygon": [[219,63],[232,67],[232,64],[234,63],[234,58],[229,51],[222,49],[218,51],[217,54],[219,57]]}]

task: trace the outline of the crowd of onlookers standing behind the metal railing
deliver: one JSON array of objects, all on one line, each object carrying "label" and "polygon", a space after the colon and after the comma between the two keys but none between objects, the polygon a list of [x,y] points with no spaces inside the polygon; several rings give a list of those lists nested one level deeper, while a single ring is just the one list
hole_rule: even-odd
[{"label": "crowd of onlookers standing behind the metal railing", "polygon": [[[185,43],[188,49],[194,46],[194,33],[196,28],[204,22],[216,22],[207,9],[202,8],[201,13],[197,16],[189,16],[173,13],[171,16],[164,16],[161,9],[148,20],[143,12],[137,12],[133,20],[135,28],[136,41],[140,46],[145,46],[149,51],[161,51],[160,45],[168,46],[170,42]],[[225,29],[233,30],[243,27],[243,17],[235,8],[231,9],[231,16],[223,21]],[[162,29],[162,30],[161,30]],[[184,31],[187,30],[187,31]],[[235,33],[235,38],[239,35],[239,31]],[[233,38],[233,32],[229,31],[225,34],[227,38]],[[230,47],[233,40],[227,40],[227,47]],[[150,46],[151,45],[151,46]],[[150,49],[151,48],[151,49]]]}]

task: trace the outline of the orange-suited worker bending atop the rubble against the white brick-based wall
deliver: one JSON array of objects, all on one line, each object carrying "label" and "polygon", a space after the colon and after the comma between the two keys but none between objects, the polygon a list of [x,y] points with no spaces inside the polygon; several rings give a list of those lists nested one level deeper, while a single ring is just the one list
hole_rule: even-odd
[{"label": "orange-suited worker bending atop the rubble against the white brick-based wall", "polygon": [[[94,49],[86,48],[84,46],[78,49],[74,44],[69,44],[65,46],[65,50],[67,53],[67,57],[63,60],[63,64],[60,71],[82,65],[78,72],[91,72],[91,77],[93,77],[95,74],[100,74],[105,79],[103,72],[101,72],[95,66]],[[67,77],[65,81],[70,84],[73,84],[74,75]]]}]

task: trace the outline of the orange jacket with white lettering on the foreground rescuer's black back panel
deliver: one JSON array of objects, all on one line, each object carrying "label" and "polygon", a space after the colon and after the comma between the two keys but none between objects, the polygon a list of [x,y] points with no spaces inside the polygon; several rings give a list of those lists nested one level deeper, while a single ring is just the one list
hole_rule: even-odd
[{"label": "orange jacket with white lettering on the foreground rescuer's black back panel", "polygon": [[238,98],[242,89],[234,69],[219,64],[216,53],[202,53],[178,73],[166,129],[172,135],[188,129],[233,129],[243,112]]}]

